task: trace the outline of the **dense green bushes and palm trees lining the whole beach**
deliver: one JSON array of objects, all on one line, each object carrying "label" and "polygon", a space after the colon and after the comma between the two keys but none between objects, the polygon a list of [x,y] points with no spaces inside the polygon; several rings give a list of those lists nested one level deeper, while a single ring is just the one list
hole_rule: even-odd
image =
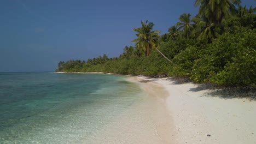
[{"label": "dense green bushes and palm trees lining the whole beach", "polygon": [[256,8],[238,0],[196,0],[195,17],[182,14],[159,35],[153,22],[134,28],[135,46],[119,57],[60,62],[56,71],[187,77],[220,86],[256,87]]}]

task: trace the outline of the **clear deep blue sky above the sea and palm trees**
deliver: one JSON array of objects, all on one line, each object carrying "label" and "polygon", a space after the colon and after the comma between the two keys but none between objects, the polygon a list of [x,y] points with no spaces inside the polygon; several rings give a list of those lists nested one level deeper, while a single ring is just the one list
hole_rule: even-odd
[{"label": "clear deep blue sky above the sea and palm trees", "polygon": [[[255,0],[242,0],[253,5]],[[118,56],[141,20],[166,33],[194,0],[1,0],[0,72],[54,71],[70,59]]]}]

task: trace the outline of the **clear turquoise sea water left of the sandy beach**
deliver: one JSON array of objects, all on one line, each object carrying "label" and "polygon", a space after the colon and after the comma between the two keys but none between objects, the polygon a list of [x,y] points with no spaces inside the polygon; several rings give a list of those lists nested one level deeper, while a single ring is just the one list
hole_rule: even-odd
[{"label": "clear turquoise sea water left of the sandy beach", "polygon": [[0,143],[93,143],[142,90],[125,76],[0,73]]}]

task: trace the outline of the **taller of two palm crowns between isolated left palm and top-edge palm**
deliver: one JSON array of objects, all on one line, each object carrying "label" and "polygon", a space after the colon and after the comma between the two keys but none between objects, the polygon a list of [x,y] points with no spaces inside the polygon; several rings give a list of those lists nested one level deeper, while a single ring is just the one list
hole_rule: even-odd
[{"label": "taller of two palm crowns between isolated left palm and top-edge palm", "polygon": [[177,31],[181,30],[184,38],[189,38],[193,29],[190,17],[191,15],[189,13],[184,13],[179,16],[179,22],[176,24],[176,26],[178,27]]}]

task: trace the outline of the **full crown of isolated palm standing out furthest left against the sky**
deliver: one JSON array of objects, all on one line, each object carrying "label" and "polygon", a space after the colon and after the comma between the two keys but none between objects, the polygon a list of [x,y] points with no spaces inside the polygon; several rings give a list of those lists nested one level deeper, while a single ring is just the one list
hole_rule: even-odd
[{"label": "full crown of isolated palm standing out furthest left against the sky", "polygon": [[160,31],[152,31],[154,23],[141,21],[141,27],[134,28],[133,31],[137,32],[137,38],[132,42],[136,43],[137,49],[143,50],[146,56],[149,56],[152,48],[155,48],[157,40],[159,38]]}]

